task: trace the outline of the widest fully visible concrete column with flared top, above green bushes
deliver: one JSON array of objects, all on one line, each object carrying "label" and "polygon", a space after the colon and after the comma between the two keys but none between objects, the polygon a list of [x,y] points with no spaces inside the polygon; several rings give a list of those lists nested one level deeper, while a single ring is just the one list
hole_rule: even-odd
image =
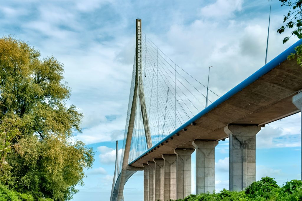
[{"label": "widest fully visible concrete column with flared top, above green bushes", "polygon": [[227,125],[230,137],[230,190],[241,191],[256,181],[256,134],[260,126]]}]

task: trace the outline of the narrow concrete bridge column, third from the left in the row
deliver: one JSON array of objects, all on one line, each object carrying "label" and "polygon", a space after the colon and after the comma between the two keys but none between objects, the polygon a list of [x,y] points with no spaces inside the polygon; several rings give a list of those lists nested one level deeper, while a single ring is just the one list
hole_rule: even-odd
[{"label": "narrow concrete bridge column, third from the left in the row", "polygon": [[154,159],[155,162],[155,200],[164,200],[164,159]]}]

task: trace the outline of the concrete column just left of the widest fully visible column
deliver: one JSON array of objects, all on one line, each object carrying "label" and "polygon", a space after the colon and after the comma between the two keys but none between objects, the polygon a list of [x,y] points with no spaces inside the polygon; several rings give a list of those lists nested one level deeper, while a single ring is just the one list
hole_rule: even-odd
[{"label": "concrete column just left of the widest fully visible column", "polygon": [[218,141],[194,140],[196,148],[196,194],[215,190],[215,146]]}]

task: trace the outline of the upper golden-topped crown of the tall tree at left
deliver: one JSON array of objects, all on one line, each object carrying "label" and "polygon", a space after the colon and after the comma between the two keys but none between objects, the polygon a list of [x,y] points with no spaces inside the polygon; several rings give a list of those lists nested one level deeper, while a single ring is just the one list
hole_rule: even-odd
[{"label": "upper golden-topped crown of the tall tree at left", "polygon": [[0,39],[0,111],[22,120],[23,135],[37,133],[71,137],[80,131],[82,114],[68,108],[70,89],[63,81],[63,65],[56,58],[40,60],[40,52],[12,37]]}]

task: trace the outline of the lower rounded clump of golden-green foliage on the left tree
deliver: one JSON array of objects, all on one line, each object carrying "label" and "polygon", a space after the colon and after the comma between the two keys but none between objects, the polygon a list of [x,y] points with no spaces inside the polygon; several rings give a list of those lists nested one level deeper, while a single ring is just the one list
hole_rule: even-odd
[{"label": "lower rounded clump of golden-green foliage on the left tree", "polygon": [[[82,142],[70,143],[57,137],[38,140],[37,136],[21,139],[11,154],[16,190],[31,192],[34,197],[69,200],[83,185],[83,168],[92,166],[92,149]],[[27,171],[24,171],[27,170]]]}]

